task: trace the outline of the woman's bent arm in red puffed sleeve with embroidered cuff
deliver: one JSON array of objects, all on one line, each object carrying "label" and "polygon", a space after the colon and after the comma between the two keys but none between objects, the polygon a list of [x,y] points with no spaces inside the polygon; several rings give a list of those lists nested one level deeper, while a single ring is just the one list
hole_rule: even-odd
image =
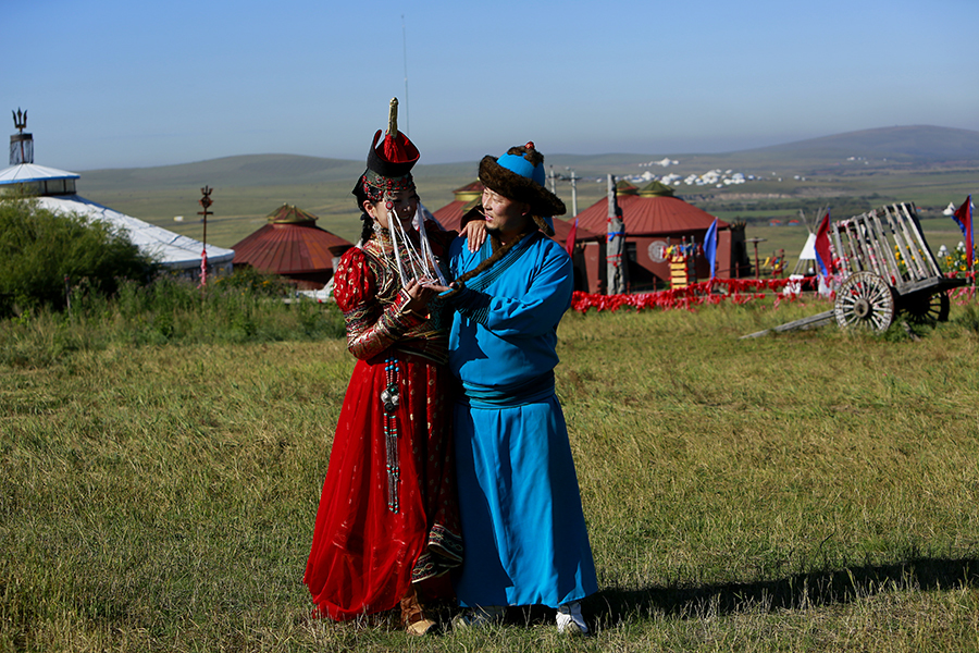
[{"label": "woman's bent arm in red puffed sleeve with embroidered cuff", "polygon": [[336,267],[333,295],[344,311],[347,349],[362,360],[377,356],[425,320],[405,310],[411,297],[404,288],[389,303],[379,299],[379,289],[368,255],[356,248],[345,254]]}]

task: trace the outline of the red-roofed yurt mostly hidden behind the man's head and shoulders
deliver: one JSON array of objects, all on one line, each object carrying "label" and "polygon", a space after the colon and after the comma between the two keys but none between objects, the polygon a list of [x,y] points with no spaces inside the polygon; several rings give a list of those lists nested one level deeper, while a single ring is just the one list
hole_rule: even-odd
[{"label": "red-roofed yurt mostly hidden behind the man's head and shoulders", "polygon": [[[438,223],[447,230],[459,231],[462,224],[462,215],[480,204],[483,195],[483,184],[479,180],[467,184],[453,192],[455,199],[432,213]],[[571,234],[574,219],[562,220],[554,218],[554,238],[561,246],[567,247],[568,236]],[[596,233],[581,225],[574,230],[574,249],[572,250],[574,262],[574,289],[586,293],[600,293],[604,286],[605,275],[605,231]]]}]

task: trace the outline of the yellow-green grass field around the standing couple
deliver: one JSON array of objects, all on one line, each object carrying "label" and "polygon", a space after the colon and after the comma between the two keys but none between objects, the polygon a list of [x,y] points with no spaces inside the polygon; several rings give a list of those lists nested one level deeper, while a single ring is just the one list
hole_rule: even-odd
[{"label": "yellow-green grass field around the standing couple", "polygon": [[424,640],[309,618],[342,340],[257,309],[240,342],[2,323],[0,651],[979,650],[979,311],[739,340],[826,308],[566,317],[599,576],[575,641],[542,609]]}]

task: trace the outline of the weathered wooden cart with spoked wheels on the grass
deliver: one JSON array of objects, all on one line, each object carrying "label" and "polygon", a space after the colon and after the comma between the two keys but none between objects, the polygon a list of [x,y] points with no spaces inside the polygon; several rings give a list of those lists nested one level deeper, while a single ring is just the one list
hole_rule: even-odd
[{"label": "weathered wooden cart with spoked wheels on the grass", "polygon": [[884,331],[899,313],[914,323],[944,322],[949,319],[945,291],[966,284],[965,279],[942,274],[913,204],[884,206],[832,222],[830,238],[840,273],[845,276],[837,289],[833,309],[770,331],[820,326],[832,321],[843,328]]}]

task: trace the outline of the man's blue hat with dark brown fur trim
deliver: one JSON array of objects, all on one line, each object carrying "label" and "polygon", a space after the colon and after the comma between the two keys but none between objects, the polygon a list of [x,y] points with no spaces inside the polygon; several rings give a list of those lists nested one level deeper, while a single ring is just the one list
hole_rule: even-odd
[{"label": "man's blue hat with dark brown fur trim", "polygon": [[511,147],[500,158],[485,156],[480,161],[480,181],[508,199],[525,201],[534,222],[548,236],[554,235],[550,218],[563,215],[567,209],[557,195],[544,187],[544,155],[533,141]]}]

